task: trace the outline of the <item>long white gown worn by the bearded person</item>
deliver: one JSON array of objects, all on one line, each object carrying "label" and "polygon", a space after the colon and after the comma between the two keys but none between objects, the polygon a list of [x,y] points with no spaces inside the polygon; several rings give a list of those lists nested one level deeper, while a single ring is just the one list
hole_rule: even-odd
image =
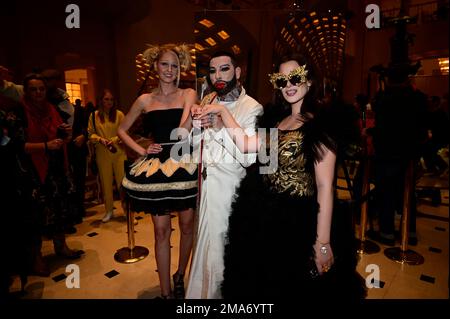
[{"label": "long white gown worn by the bearded person", "polygon": [[[255,134],[256,117],[263,108],[242,92],[237,101],[226,105],[248,135]],[[196,239],[186,291],[187,299],[219,299],[223,280],[224,247],[228,217],[236,188],[245,176],[245,167],[256,160],[256,154],[242,154],[226,129],[203,132],[203,180],[198,208]]]}]

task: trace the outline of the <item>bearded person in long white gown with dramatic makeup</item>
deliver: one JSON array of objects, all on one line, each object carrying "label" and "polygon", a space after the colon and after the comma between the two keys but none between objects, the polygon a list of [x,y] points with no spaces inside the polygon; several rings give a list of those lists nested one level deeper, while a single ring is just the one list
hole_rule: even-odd
[{"label": "bearded person in long white gown with dramatic makeup", "polygon": [[[257,116],[263,107],[248,96],[239,82],[241,68],[230,52],[217,52],[209,62],[207,81],[213,90],[208,103],[225,105],[249,135],[255,134]],[[204,104],[204,103],[203,103]],[[192,117],[201,112],[194,105]],[[243,154],[234,144],[220,117],[202,120],[201,181],[199,188],[198,228],[192,258],[188,299],[222,298],[223,256],[228,217],[236,187],[256,154]]]}]

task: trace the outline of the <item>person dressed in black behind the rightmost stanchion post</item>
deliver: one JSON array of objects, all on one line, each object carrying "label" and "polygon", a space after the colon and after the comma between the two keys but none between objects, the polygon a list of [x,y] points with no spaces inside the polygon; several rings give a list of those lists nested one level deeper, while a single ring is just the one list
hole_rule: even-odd
[{"label": "person dressed in black behind the rightmost stanchion post", "polygon": [[[380,229],[368,235],[387,246],[394,246],[399,234],[395,229],[395,213],[403,212],[405,176],[411,162],[412,180],[416,180],[416,167],[426,140],[426,103],[426,95],[415,89],[404,74],[390,75],[385,88],[375,96],[375,127],[372,131],[375,199]],[[409,206],[408,244],[416,245],[415,190],[411,193]]]}]

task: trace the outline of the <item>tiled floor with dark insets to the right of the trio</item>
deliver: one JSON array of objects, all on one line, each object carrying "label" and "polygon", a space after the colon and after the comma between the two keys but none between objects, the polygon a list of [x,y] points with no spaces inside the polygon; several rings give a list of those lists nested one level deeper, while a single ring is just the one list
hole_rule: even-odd
[{"label": "tiled floor with dark insets to the right of the trio", "polygon": [[[448,207],[441,207],[448,212]],[[417,228],[419,243],[409,249],[424,258],[422,265],[400,264],[387,258],[384,250],[388,247],[381,244],[380,252],[361,256],[357,268],[361,275],[373,271],[366,272],[370,264],[380,270],[382,288],[369,289],[368,299],[448,299],[448,222],[418,217]],[[396,246],[400,247],[400,243]]]}]

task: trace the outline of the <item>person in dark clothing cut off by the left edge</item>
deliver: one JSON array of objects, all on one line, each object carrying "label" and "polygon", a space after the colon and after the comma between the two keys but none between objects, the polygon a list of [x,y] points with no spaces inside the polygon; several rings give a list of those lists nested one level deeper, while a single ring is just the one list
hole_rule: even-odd
[{"label": "person in dark clothing cut off by the left edge", "polygon": [[[8,260],[0,264],[0,299],[6,300],[13,276],[20,275],[22,289],[33,272],[36,242],[40,239],[39,213],[33,198],[39,186],[33,164],[25,153],[25,115],[20,103],[0,96],[0,240]],[[16,225],[17,227],[11,227]],[[38,274],[39,275],[39,274]],[[23,291],[22,291],[23,292]]]}]

